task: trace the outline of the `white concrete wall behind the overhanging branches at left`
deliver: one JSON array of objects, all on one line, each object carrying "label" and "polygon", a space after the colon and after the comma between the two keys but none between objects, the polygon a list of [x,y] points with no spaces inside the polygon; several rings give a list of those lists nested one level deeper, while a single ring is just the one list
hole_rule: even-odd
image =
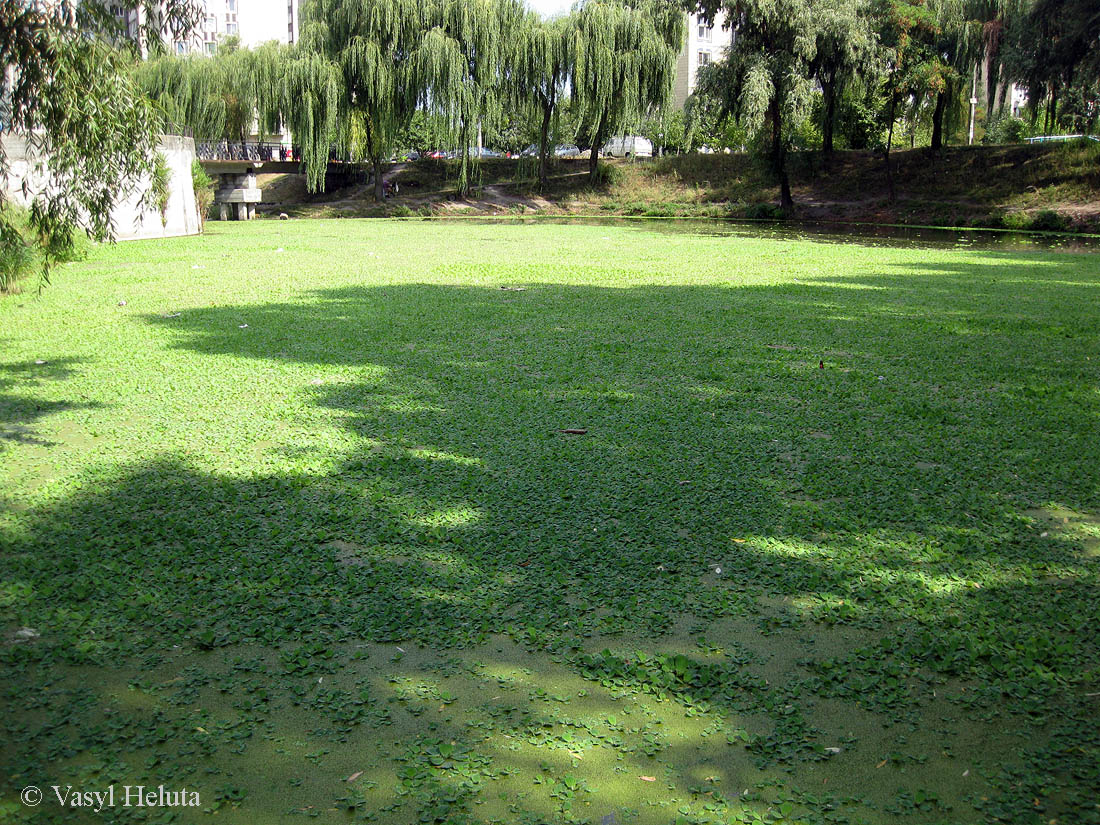
[{"label": "white concrete wall behind the overhanging branches at left", "polygon": [[[48,190],[48,177],[42,173],[44,164],[34,156],[33,151],[28,150],[26,142],[22,138],[3,135],[0,142],[3,144],[9,165],[8,177],[2,182],[4,193],[15,204],[28,206],[35,194]],[[168,182],[168,208],[163,219],[156,207],[142,210],[139,201],[148,187],[148,180],[142,182],[136,191],[122,198],[111,210],[116,237],[120,241],[194,235],[202,228],[195,202],[195,190],[191,187],[195,141],[190,138],[166,135],[161,139],[160,151],[172,173]],[[29,196],[22,190],[24,180],[29,184]]]}]

